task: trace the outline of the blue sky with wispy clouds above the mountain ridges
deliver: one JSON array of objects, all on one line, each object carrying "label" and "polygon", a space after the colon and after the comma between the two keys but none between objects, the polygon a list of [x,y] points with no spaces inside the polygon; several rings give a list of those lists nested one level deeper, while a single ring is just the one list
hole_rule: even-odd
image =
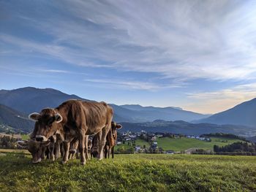
[{"label": "blue sky with wispy clouds above the mountain ridges", "polygon": [[0,89],[213,114],[256,97],[256,1],[0,1]]}]

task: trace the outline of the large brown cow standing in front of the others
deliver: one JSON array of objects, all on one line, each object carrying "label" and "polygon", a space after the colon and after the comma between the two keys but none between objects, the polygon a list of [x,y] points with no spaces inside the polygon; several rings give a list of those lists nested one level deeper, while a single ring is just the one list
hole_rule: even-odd
[{"label": "large brown cow standing in front of the others", "polygon": [[105,102],[69,100],[55,109],[47,108],[40,113],[32,113],[29,118],[38,122],[36,140],[40,142],[47,140],[61,128],[63,129],[65,135],[63,164],[68,161],[71,142],[66,135],[71,134],[73,138],[78,137],[80,163],[86,164],[84,154],[86,135],[97,134],[99,139],[99,155],[97,158],[102,160],[105,138],[110,130],[113,118],[113,109]]}]

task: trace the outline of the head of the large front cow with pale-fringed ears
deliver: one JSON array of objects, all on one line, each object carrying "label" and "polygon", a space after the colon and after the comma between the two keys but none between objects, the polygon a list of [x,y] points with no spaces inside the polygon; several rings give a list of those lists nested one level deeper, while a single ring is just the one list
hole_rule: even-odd
[{"label": "head of the large front cow with pale-fringed ears", "polygon": [[45,142],[58,129],[62,121],[61,115],[54,109],[44,109],[40,113],[33,112],[29,118],[35,120],[34,137],[37,142]]}]

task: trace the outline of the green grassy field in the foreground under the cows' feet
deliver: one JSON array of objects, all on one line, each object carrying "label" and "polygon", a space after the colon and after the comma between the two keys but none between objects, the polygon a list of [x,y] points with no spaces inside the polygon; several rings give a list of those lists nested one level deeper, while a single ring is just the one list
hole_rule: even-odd
[{"label": "green grassy field in the foreground under the cows' feet", "polygon": [[0,162],[0,191],[256,191],[253,156],[116,155],[63,166],[7,153]]}]

